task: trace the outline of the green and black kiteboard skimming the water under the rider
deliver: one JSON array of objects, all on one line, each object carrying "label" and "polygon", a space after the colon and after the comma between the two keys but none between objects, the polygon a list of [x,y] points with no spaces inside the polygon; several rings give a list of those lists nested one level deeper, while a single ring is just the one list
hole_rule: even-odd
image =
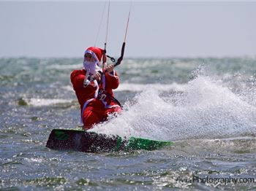
[{"label": "green and black kiteboard skimming the water under the rider", "polygon": [[171,144],[173,144],[171,141],[154,141],[135,137],[127,139],[84,130],[53,129],[46,147],[80,152],[115,152],[138,149],[154,150]]}]

